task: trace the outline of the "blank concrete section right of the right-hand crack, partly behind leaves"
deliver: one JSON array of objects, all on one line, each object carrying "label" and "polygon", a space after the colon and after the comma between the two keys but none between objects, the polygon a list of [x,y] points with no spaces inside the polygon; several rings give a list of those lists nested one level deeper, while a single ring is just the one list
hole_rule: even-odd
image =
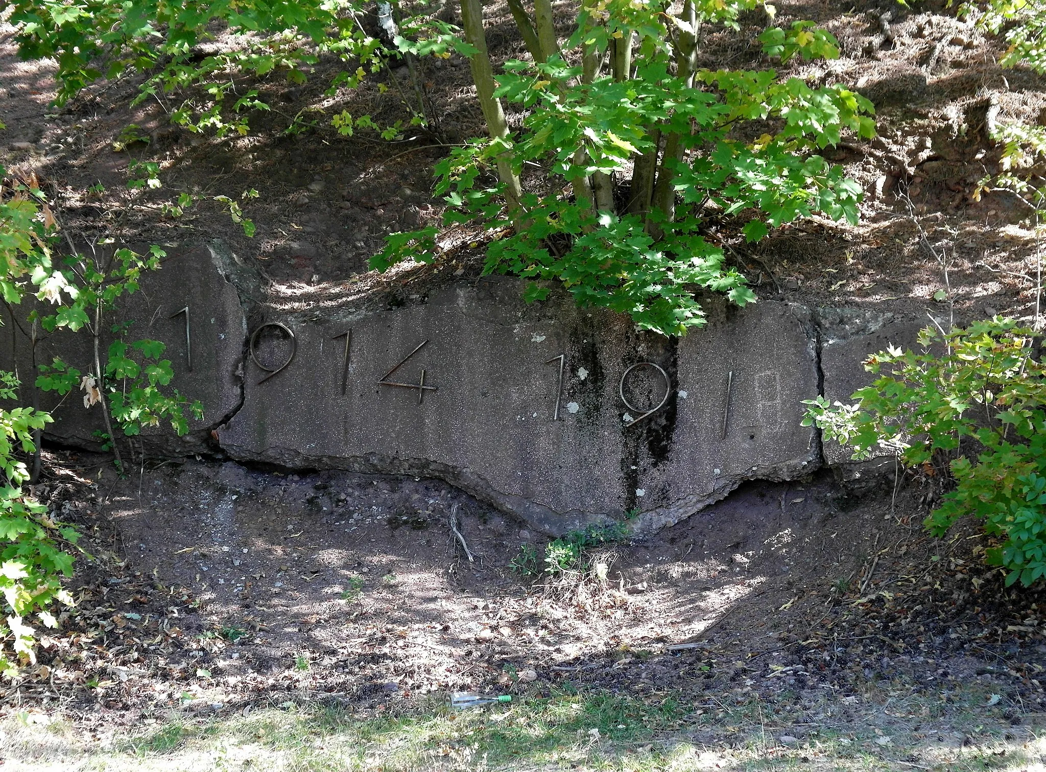
[{"label": "blank concrete section right of the right-hand crack, partly behind leaves", "polygon": [[[839,401],[847,405],[852,403],[850,394],[879,377],[864,368],[864,361],[891,345],[916,347],[919,331],[929,323],[929,319],[920,322],[859,309],[824,308],[817,310],[816,321],[824,376],[822,393],[832,403]],[[854,461],[849,449],[832,440],[824,441],[822,453],[826,464],[837,467],[848,478],[867,475],[882,466],[882,461],[876,460]],[[893,456],[884,450],[878,457]]]}]

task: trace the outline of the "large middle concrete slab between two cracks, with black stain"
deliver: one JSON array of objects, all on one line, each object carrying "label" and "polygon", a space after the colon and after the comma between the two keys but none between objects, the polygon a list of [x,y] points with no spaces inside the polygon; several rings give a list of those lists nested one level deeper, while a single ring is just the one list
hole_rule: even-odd
[{"label": "large middle concrete slab between two cracks, with black stain", "polygon": [[[297,340],[292,364],[262,381],[249,362],[245,402],[222,448],[233,458],[297,468],[439,477],[532,526],[563,532],[638,507],[640,527],[676,522],[751,478],[789,479],[818,462],[817,436],[799,426],[799,400],[817,391],[809,321],[801,310],[759,303],[744,313],[712,303],[712,323],[682,341],[637,333],[631,322],[520,300],[515,280],[459,285],[427,302],[322,322],[278,319]],[[313,318],[313,317],[309,317]],[[277,319],[266,319],[277,321]],[[351,328],[347,388],[344,338]],[[379,384],[389,379],[437,387]],[[274,366],[286,340],[259,345]],[[553,421],[565,355],[561,421]],[[659,365],[664,407],[631,427],[624,371]],[[730,414],[722,436],[727,380]],[[650,378],[651,374],[655,377]],[[664,384],[641,368],[626,384],[637,408]]]}]

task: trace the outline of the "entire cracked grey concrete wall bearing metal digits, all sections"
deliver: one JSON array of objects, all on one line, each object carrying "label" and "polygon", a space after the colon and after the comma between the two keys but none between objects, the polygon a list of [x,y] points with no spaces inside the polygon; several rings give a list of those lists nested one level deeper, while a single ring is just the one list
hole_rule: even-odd
[{"label": "entire cracked grey concrete wall bearing metal digits, all sections", "polygon": [[[803,306],[713,298],[706,327],[665,339],[565,295],[527,305],[505,277],[397,308],[278,313],[220,243],[173,253],[142,288],[119,312],[136,320],[131,339],[163,340],[174,385],[207,409],[186,438],[153,432],[154,448],[438,477],[550,533],[636,510],[639,528],[660,527],[744,480],[814,471],[822,450],[800,401],[822,381],[849,388],[849,359],[880,330],[850,324],[825,348]],[[86,371],[89,348],[56,335],[38,361],[56,354]],[[55,416],[49,434],[69,445],[91,445],[101,426],[77,394]]]}]

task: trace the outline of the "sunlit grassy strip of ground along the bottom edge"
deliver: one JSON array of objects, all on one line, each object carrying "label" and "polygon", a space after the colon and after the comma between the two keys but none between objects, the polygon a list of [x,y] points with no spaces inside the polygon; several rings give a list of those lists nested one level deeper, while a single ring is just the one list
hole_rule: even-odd
[{"label": "sunlit grassy strip of ground along the bottom edge", "polygon": [[[439,697],[397,711],[347,711],[287,701],[224,718],[170,711],[107,743],[39,712],[0,724],[5,770],[1046,770],[1046,734],[988,714],[979,696],[949,721],[888,730],[870,707],[858,721],[782,726],[754,700],[696,710],[672,696],[554,692],[451,712]],[[725,707],[725,706],[724,706]],[[790,733],[794,732],[794,733]]]}]

